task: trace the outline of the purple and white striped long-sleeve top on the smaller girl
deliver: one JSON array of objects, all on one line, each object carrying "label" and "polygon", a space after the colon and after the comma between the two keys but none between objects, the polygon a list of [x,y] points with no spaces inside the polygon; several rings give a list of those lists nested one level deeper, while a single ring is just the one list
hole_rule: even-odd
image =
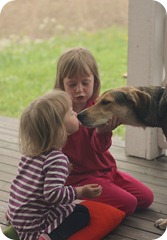
[{"label": "purple and white striped long-sleeve top on the smaller girl", "polygon": [[41,232],[50,233],[73,212],[76,191],[64,186],[68,164],[68,158],[56,150],[21,158],[7,212],[20,240],[36,240]]}]

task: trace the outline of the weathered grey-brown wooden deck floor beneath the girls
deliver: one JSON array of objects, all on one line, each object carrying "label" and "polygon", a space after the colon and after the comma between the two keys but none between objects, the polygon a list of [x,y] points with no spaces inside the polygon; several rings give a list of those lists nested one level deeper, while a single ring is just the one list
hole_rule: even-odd
[{"label": "weathered grey-brown wooden deck floor beneath the girls", "polygon": [[[121,171],[136,177],[154,192],[154,202],[146,211],[135,212],[104,240],[151,240],[160,237],[163,231],[154,227],[158,218],[167,218],[167,157],[162,156],[152,161],[129,157],[125,154],[125,143],[113,138],[111,152]],[[0,224],[7,224],[7,208],[10,184],[20,159],[18,147],[18,120],[0,117]]]}]

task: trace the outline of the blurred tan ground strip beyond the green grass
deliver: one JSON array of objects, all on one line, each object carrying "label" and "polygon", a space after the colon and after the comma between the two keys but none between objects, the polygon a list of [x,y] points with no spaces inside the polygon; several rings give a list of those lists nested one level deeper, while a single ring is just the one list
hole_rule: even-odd
[{"label": "blurred tan ground strip beyond the green grass", "polygon": [[15,0],[0,15],[0,38],[47,39],[56,34],[127,26],[128,0]]}]

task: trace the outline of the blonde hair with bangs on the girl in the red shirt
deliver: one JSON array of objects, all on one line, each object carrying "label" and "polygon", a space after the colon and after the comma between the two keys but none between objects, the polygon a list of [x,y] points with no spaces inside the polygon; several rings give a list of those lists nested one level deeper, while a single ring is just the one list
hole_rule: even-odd
[{"label": "blonde hair with bangs on the girl in the red shirt", "polygon": [[64,78],[94,75],[94,89],[91,100],[96,99],[100,92],[100,77],[94,56],[85,48],[76,47],[65,51],[57,63],[56,82],[54,88],[64,90]]}]

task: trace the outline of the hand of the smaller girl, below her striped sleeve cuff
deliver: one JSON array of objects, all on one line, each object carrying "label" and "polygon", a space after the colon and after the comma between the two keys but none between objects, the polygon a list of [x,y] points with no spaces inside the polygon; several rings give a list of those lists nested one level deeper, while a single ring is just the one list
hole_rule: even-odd
[{"label": "hand of the smaller girl, below her striped sleeve cuff", "polygon": [[94,198],[102,193],[102,186],[99,184],[87,184],[82,187],[76,187],[77,198]]}]

